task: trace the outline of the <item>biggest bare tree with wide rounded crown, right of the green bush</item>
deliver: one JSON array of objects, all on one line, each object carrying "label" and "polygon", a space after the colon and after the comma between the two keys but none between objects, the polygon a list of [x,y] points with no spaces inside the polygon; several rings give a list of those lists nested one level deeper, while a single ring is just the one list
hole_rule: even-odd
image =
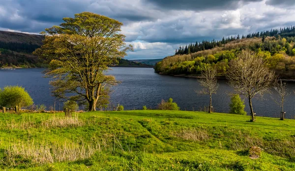
[{"label": "biggest bare tree with wide rounded crown, right of the green bush", "polygon": [[263,96],[275,84],[276,75],[269,70],[264,60],[250,50],[242,50],[237,58],[231,60],[227,73],[229,84],[237,93],[248,98],[251,121],[254,121],[252,98]]}]

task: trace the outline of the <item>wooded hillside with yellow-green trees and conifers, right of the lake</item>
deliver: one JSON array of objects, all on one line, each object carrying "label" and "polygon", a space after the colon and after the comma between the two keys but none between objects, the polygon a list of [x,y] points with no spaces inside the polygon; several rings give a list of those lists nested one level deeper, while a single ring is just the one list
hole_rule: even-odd
[{"label": "wooded hillside with yellow-green trees and conifers, right of the lake", "polygon": [[215,66],[219,76],[227,73],[229,61],[243,49],[255,51],[266,65],[281,78],[295,78],[295,26],[272,29],[241,37],[203,41],[179,47],[175,55],[164,58],[155,66],[163,74],[199,75],[204,66]]}]

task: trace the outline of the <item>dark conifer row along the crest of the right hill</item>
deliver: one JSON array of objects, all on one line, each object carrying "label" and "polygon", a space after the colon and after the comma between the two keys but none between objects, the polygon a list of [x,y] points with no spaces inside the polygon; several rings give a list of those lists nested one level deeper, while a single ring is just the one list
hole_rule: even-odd
[{"label": "dark conifer row along the crest of the right hill", "polygon": [[271,29],[270,31],[261,31],[261,32],[253,32],[249,33],[248,35],[237,35],[237,36],[231,36],[228,38],[222,38],[222,40],[219,41],[207,41],[203,40],[202,42],[196,42],[195,44],[191,43],[188,46],[185,47],[179,47],[179,49],[176,49],[175,54],[190,54],[195,53],[198,51],[206,50],[206,49],[213,49],[215,47],[221,47],[229,42],[240,40],[240,39],[249,39],[249,38],[262,38],[262,41],[264,42],[266,37],[276,37],[277,39],[280,38],[286,38],[287,42],[295,42],[295,26],[291,27],[284,27],[280,29]]}]

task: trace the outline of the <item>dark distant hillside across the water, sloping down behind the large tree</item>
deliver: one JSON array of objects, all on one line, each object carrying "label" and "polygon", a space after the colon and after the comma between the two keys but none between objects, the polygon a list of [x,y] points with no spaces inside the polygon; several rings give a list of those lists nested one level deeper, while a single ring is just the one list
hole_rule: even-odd
[{"label": "dark distant hillside across the water, sloping down behind the large tree", "polygon": [[[43,59],[31,53],[42,45],[44,36],[0,30],[0,67],[46,68]],[[121,59],[118,67],[153,67]]]}]

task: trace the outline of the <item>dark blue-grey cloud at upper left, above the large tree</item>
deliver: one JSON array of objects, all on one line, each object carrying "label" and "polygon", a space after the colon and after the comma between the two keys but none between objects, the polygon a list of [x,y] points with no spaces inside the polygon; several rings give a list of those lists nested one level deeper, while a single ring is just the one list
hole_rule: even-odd
[{"label": "dark blue-grey cloud at upper left, above the large tree", "polygon": [[[136,8],[108,0],[4,0],[0,4],[0,27],[23,32],[40,32],[44,28],[62,23],[64,17],[90,11],[128,24],[154,20]],[[45,26],[45,27],[44,27]]]}]

